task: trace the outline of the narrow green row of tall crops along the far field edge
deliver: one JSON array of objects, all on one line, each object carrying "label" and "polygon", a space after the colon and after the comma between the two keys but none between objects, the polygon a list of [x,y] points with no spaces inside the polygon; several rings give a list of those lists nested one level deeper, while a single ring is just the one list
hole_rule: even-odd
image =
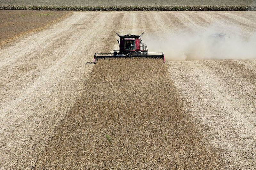
[{"label": "narrow green row of tall crops along the far field edge", "polygon": [[51,10],[51,11],[256,11],[256,6],[193,5],[193,6],[19,6],[0,5],[0,10]]}]

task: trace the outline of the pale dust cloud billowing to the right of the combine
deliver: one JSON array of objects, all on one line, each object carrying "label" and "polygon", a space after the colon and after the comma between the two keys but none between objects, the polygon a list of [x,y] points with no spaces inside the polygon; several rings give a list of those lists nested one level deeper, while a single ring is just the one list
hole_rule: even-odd
[{"label": "pale dust cloud billowing to the right of the combine", "polygon": [[[222,33],[221,36],[213,34]],[[148,52],[164,52],[166,61],[203,59],[256,59],[256,33],[241,36],[239,27],[211,26],[206,30],[180,30],[148,37]]]}]

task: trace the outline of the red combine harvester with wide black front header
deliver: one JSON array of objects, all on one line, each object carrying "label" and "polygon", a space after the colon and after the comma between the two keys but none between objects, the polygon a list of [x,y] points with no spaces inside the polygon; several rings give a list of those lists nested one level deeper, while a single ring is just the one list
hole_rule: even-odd
[{"label": "red combine harvester with wide black front header", "polygon": [[[141,35],[143,35],[142,33]],[[96,64],[99,58],[132,58],[132,57],[141,57],[141,58],[162,58],[165,62],[163,52],[148,52],[146,44],[141,43],[141,35],[119,35],[120,40],[119,50],[114,50],[113,53],[96,53],[94,55],[93,63]],[[119,51],[117,53],[117,51]]]}]

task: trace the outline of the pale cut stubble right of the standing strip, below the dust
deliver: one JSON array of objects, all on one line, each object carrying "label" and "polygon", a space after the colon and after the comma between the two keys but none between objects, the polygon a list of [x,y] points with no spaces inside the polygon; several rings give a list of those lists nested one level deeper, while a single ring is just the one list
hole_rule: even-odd
[{"label": "pale cut stubble right of the standing strip, below the dust", "polygon": [[225,169],[256,169],[256,60],[168,62],[186,113],[220,148]]}]

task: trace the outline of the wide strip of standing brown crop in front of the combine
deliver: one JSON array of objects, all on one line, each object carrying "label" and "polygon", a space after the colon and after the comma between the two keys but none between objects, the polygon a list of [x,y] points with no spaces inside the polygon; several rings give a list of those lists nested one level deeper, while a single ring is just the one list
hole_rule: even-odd
[{"label": "wide strip of standing brown crop in front of the combine", "polygon": [[99,60],[35,169],[218,168],[156,59]]}]

